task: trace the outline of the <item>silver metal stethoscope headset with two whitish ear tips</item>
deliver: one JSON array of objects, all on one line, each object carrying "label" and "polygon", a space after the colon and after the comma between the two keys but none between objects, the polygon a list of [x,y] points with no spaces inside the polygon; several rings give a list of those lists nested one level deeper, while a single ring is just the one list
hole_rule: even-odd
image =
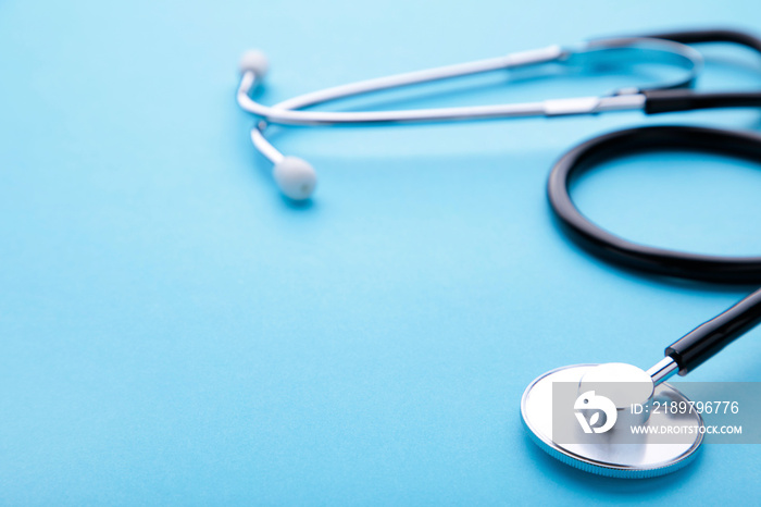
[{"label": "silver metal stethoscope headset with two whitish ear tips", "polygon": [[[539,102],[439,108],[401,111],[321,112],[300,111],[317,104],[391,88],[420,85],[440,79],[469,76],[485,72],[509,71],[539,65],[567,69],[589,67],[606,59],[641,59],[683,70],[676,79],[647,88],[628,87],[610,96],[577,97]],[[638,61],[638,60],[636,60]],[[305,94],[266,107],[251,98],[251,92],[263,82],[269,64],[258,51],[248,52],[241,61],[241,79],[237,99],[240,107],[259,118],[251,129],[255,149],[272,162],[273,175],[280,190],[292,199],[309,198],[316,185],[314,169],[301,159],[286,157],[265,137],[269,124],[283,125],[383,125],[410,122],[450,122],[572,114],[598,114],[612,111],[633,111],[645,108],[645,89],[674,89],[689,87],[702,69],[702,57],[681,42],[657,38],[615,38],[583,42],[575,47],[547,48],[511,53],[488,60],[448,65],[425,71],[398,74]]]}]

